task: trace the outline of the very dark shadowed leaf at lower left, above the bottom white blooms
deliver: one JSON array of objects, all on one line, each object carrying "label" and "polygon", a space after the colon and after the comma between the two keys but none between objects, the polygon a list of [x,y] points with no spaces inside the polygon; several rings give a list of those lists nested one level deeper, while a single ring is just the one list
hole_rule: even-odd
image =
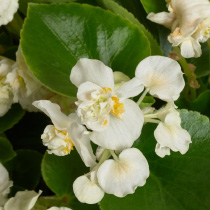
[{"label": "very dark shadowed leaf at lower left, above the bottom white blooms", "polygon": [[42,155],[33,150],[17,150],[17,156],[4,163],[15,186],[34,190],[41,175]]}]

